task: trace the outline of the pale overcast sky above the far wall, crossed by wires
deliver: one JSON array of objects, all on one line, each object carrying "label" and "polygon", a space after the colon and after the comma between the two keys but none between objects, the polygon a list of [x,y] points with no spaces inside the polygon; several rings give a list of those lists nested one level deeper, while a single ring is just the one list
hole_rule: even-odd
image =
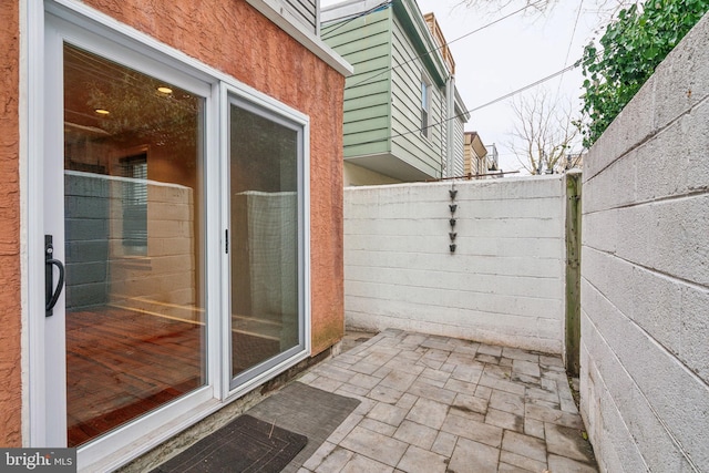
[{"label": "pale overcast sky above the far wall, crossed by wires", "polygon": [[[320,4],[338,3],[321,0]],[[540,17],[515,14],[466,38],[518,10],[522,1],[497,12],[479,12],[461,6],[461,0],[418,0],[422,13],[433,12],[455,60],[455,83],[467,110],[479,107],[540,79],[561,71],[580,59],[584,45],[594,37],[598,14],[584,8],[583,0],[561,0]],[[592,3],[592,2],[587,2]],[[578,14],[580,9],[580,14]],[[576,21],[578,17],[578,21]],[[569,47],[571,44],[571,47]],[[567,59],[568,58],[568,59]],[[580,110],[580,68],[566,72],[541,85],[552,95],[558,93],[572,101],[573,111]],[[524,94],[533,93],[533,90]],[[515,116],[511,99],[471,114],[465,131],[476,131],[483,143],[495,144],[503,171],[520,169],[511,150]],[[580,151],[580,144],[577,146]],[[526,174],[522,171],[521,174]]]}]

